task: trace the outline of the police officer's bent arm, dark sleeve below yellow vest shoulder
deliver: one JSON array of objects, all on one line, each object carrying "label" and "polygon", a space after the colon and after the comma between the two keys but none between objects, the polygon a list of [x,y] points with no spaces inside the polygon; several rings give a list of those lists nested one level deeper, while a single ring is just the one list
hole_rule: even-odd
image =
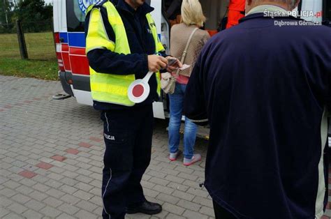
[{"label": "police officer's bent arm, dark sleeve below yellow vest shoulder", "polygon": [[159,66],[165,66],[166,61],[161,59],[163,57],[113,52],[115,50],[115,33],[108,22],[105,8],[92,9],[87,15],[85,25],[87,59],[89,59],[89,66],[96,72],[131,75],[138,72],[147,73],[149,70],[155,72]]}]

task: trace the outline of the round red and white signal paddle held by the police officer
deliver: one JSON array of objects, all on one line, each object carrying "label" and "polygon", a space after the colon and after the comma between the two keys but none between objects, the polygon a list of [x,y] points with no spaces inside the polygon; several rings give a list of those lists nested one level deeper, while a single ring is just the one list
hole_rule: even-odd
[{"label": "round red and white signal paddle held by the police officer", "polygon": [[153,75],[153,72],[147,73],[147,75],[142,78],[133,81],[130,86],[128,86],[128,99],[133,103],[142,103],[149,95],[149,78]]}]

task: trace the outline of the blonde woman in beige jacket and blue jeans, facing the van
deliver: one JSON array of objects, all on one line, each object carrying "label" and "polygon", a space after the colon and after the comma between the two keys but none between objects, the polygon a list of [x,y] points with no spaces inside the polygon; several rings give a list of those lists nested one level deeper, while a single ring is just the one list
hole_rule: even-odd
[{"label": "blonde woman in beige jacket and blue jeans, facing the van", "polygon": [[[205,16],[198,0],[184,0],[182,3],[182,23],[175,24],[171,29],[170,53],[172,56],[181,60],[186,44],[189,41],[191,33],[196,28],[203,27]],[[201,29],[193,33],[191,42],[187,49],[183,64],[190,65],[190,68],[180,70],[177,76],[175,92],[169,95],[170,100],[170,122],[169,122],[169,151],[170,160],[176,160],[179,155],[179,128],[182,121],[182,110],[184,102],[184,93],[186,84],[189,82],[194,63],[203,48],[203,45],[209,39],[207,31]],[[196,143],[196,124],[185,118],[184,128],[184,165],[189,166],[201,160],[201,155],[193,154],[194,144]]]}]

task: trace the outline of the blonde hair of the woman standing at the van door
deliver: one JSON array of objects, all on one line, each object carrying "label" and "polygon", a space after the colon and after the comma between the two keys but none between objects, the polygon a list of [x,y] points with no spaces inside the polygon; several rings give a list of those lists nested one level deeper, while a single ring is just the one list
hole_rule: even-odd
[{"label": "blonde hair of the woman standing at the van door", "polygon": [[203,27],[205,21],[206,17],[203,15],[203,8],[199,0],[183,0],[182,22],[184,22],[184,24],[196,24],[199,27]]}]

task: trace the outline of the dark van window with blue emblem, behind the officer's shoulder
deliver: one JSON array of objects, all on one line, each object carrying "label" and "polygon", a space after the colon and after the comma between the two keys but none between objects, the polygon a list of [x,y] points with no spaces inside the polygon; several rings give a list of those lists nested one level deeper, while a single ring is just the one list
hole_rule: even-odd
[{"label": "dark van window with blue emblem, behind the officer's shoulder", "polygon": [[68,32],[84,32],[85,11],[98,0],[66,0]]}]

